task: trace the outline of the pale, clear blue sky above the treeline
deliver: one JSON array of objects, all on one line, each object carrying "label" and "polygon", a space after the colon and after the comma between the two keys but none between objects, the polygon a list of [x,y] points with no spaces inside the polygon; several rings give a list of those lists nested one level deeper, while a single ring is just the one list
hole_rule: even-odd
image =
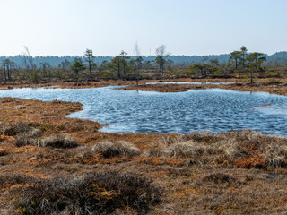
[{"label": "pale, clear blue sky above the treeline", "polygon": [[287,50],[287,0],[0,0],[0,56]]}]

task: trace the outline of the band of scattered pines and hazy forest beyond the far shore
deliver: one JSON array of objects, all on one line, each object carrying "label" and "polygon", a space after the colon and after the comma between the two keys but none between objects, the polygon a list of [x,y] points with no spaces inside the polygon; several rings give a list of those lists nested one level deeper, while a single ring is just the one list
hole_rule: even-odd
[{"label": "band of scattered pines and hazy forest beyond the far shore", "polygon": [[[135,48],[136,55],[128,56],[125,51],[119,55],[94,56],[86,49],[83,56],[31,56],[25,47],[21,56],[2,57],[0,80],[26,80],[50,82],[61,80],[109,80],[109,79],[160,79],[160,78],[206,78],[206,77],[279,77],[285,75],[287,52],[267,56],[264,53],[249,53],[246,47],[220,56],[170,56],[167,47],[156,49],[156,56],[142,56]],[[17,58],[19,57],[19,58]],[[284,58],[286,57],[286,58]],[[57,64],[50,64],[47,59]],[[191,59],[194,59],[192,62]],[[269,61],[268,61],[269,59]],[[181,62],[181,63],[178,63]],[[279,66],[281,71],[278,72]],[[276,69],[274,69],[276,68]]]}]

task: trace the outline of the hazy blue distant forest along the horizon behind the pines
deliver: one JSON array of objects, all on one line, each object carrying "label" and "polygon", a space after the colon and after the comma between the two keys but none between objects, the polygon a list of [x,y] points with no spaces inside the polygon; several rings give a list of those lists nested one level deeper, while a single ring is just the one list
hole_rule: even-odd
[{"label": "hazy blue distant forest along the horizon behind the pines", "polygon": [[[130,56],[132,59],[135,59],[136,56]],[[156,56],[143,56],[143,62],[154,61]],[[169,56],[173,64],[175,65],[190,65],[190,64],[199,64],[202,62],[204,57],[207,59],[217,59],[219,64],[228,64],[230,59],[230,54],[223,55],[210,55],[210,56]],[[287,64],[287,52],[277,52],[273,55],[266,55],[266,61],[264,64],[268,64],[269,66],[282,66]],[[3,62],[4,59],[8,58],[13,61],[15,67],[22,67],[23,61],[22,56],[0,56],[0,62]],[[82,58],[85,60],[84,56],[33,56],[33,63],[36,64],[37,67],[40,67],[41,64],[47,63],[52,67],[57,67],[59,64],[67,60],[68,62],[73,62],[74,58]],[[113,56],[95,56],[94,63],[100,65],[103,61],[111,61]]]}]

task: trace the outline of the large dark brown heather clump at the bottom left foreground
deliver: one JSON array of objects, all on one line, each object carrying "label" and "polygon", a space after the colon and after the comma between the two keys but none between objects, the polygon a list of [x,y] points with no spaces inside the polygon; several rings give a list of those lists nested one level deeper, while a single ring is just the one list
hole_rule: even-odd
[{"label": "large dark brown heather clump at the bottom left foreground", "polygon": [[38,179],[19,192],[14,205],[25,214],[109,214],[125,207],[145,214],[161,198],[161,187],[128,172]]}]

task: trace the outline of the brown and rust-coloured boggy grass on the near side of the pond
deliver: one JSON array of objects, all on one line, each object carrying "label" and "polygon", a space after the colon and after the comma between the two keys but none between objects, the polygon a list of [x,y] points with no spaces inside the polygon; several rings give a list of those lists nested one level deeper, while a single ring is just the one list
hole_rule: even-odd
[{"label": "brown and rust-coloured boggy grass on the near side of the pond", "polygon": [[[65,118],[81,109],[79,103],[4,98],[0,109],[0,214],[88,214],[86,209],[95,214],[284,214],[287,210],[283,137],[250,130],[100,133],[98,123]],[[63,133],[79,147],[35,143]],[[21,138],[30,143],[15,147]]]}]

